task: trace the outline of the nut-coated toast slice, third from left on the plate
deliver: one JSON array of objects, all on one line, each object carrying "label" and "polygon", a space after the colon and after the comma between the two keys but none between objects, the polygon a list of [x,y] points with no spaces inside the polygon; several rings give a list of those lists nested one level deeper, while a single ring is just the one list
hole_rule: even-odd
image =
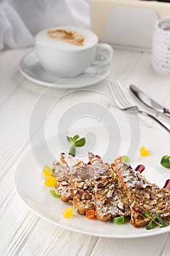
[{"label": "nut-coated toast slice, third from left on the plate", "polygon": [[117,216],[130,215],[130,203],[115,170],[92,153],[88,153],[88,158],[93,168],[97,219],[107,222]]}]

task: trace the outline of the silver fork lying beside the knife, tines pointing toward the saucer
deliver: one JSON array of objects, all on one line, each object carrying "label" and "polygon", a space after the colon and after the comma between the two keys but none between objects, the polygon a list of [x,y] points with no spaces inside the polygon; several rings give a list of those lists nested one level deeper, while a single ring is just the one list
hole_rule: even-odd
[{"label": "silver fork lying beside the knife, tines pointing toward the saucer", "polygon": [[119,82],[110,83],[108,82],[109,91],[112,95],[112,98],[115,100],[115,103],[120,110],[128,111],[130,113],[140,113],[144,116],[149,116],[158,124],[161,125],[167,132],[170,133],[170,129],[166,127],[163,122],[159,121],[158,118],[152,116],[150,113],[147,113],[143,110],[139,110],[139,108],[134,104],[134,102],[129,101],[128,97],[125,95],[125,91],[123,91],[122,86],[120,86]]}]

